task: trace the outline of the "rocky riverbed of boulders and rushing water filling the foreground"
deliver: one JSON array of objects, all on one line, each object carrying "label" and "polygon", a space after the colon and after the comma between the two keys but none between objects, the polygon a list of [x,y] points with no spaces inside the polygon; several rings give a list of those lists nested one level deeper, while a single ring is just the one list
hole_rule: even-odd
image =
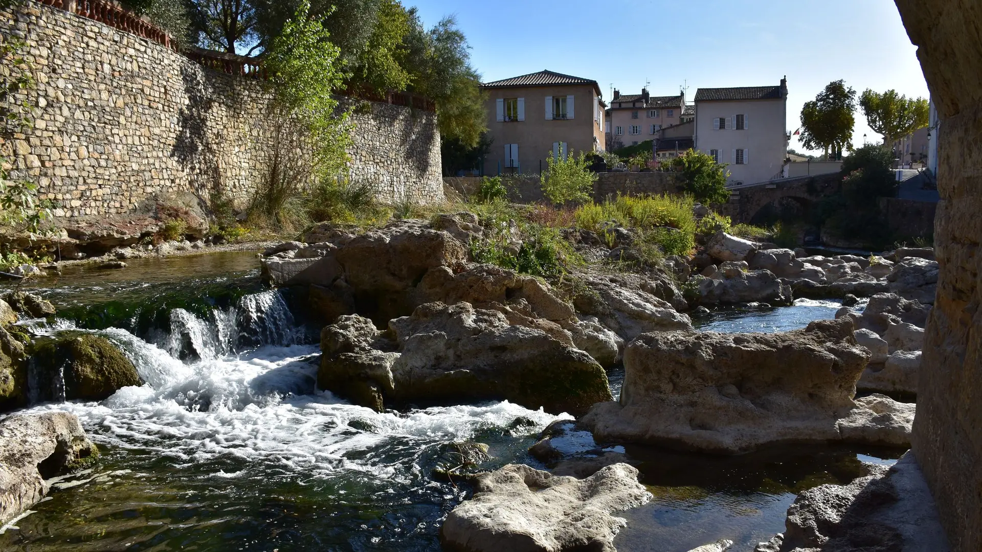
[{"label": "rocky riverbed of boulders and rushing water filling the foreground", "polygon": [[[620,244],[584,231],[563,236],[584,259],[630,251],[629,229]],[[89,500],[101,497],[119,506],[103,507],[100,534],[147,544],[208,542],[208,527],[220,524],[257,550],[423,550],[442,540],[624,551],[647,549],[650,538],[666,550],[722,550],[779,532],[801,490],[872,473],[857,453],[882,463],[907,446],[913,406],[895,399],[915,389],[886,376],[920,347],[927,252],[897,251],[862,267],[716,235],[701,256],[628,270],[587,260],[541,279],[474,262],[488,229],[467,213],[368,232],[318,225],[299,238],[267,248],[261,269],[246,268],[256,262],[248,253],[224,253],[236,259],[225,269],[156,258],[136,259],[108,281],[63,275],[37,290],[56,313],[8,298],[20,319],[6,325],[27,340],[17,353],[26,368],[9,370],[21,402],[8,408],[75,414],[103,454],[76,482],[53,483],[56,500],[0,543],[55,542],[76,525],[51,524],[52,516],[94,515]],[[514,236],[516,248],[522,239]],[[186,268],[172,277],[141,268],[168,262]],[[888,263],[889,273],[867,274]],[[199,270],[209,264],[210,274]],[[260,274],[276,289],[264,290]],[[868,290],[846,288],[867,277],[875,280]],[[849,293],[821,307],[783,306],[795,290],[815,289],[805,281]],[[857,294],[873,297],[863,308]],[[822,310],[772,328],[787,333],[705,331],[801,308]],[[819,318],[828,320],[808,324]],[[47,350],[68,362],[45,368],[39,352]],[[120,367],[92,377],[93,357]],[[857,382],[890,396],[857,396]],[[775,466],[800,458],[788,443],[811,443],[810,456],[825,460],[795,461],[785,473]],[[747,451],[756,452],[728,456]],[[745,481],[695,476],[702,464],[758,482],[747,495]],[[192,478],[173,480],[175,469]],[[228,491],[209,494],[219,479]],[[259,503],[249,498],[256,488]],[[537,494],[546,488],[554,496]],[[137,500],[141,493],[149,496]],[[524,521],[478,522],[482,508],[504,512],[495,504]],[[210,513],[227,508],[239,514]],[[743,508],[758,514],[722,522]],[[549,510],[557,515],[530,522],[530,512]],[[719,530],[684,537],[654,512],[696,513],[689,523]],[[359,524],[368,513],[378,522]],[[160,514],[200,523],[158,524]],[[134,516],[159,531],[124,528]],[[654,527],[655,536],[644,532]],[[103,549],[105,538],[85,540],[85,549]]]}]

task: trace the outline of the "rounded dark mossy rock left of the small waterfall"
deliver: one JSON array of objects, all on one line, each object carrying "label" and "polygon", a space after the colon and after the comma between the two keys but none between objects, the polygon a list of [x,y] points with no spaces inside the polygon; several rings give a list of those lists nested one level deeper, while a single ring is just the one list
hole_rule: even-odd
[{"label": "rounded dark mossy rock left of the small waterfall", "polygon": [[31,350],[42,400],[57,399],[46,395],[54,394],[62,373],[66,400],[101,401],[120,388],[143,383],[133,362],[97,335],[65,332],[35,340]]}]

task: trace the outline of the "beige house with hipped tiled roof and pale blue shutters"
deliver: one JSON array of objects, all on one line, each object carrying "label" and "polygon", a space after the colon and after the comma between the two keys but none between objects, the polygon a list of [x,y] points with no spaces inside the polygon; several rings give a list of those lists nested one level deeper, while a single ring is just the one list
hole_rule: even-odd
[{"label": "beige house with hipped tiled roof and pale blue shutters", "polygon": [[552,71],[483,83],[491,152],[484,174],[539,173],[550,155],[604,148],[604,109],[596,81]]}]

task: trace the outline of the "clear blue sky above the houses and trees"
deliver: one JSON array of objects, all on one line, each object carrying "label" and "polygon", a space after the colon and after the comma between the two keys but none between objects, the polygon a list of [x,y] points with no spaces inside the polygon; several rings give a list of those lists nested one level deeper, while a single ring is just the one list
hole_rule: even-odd
[{"label": "clear blue sky above the houses and trees", "polygon": [[[639,0],[611,10],[605,2],[566,0],[403,0],[429,27],[456,15],[485,82],[543,69],[691,101],[699,86],[778,84],[788,76],[788,129],[800,127],[804,102],[845,79],[861,93],[895,88],[928,96],[892,0]],[[616,14],[616,15],[615,15]],[[856,112],[855,145],[882,140]],[[791,147],[801,150],[795,139]]]}]

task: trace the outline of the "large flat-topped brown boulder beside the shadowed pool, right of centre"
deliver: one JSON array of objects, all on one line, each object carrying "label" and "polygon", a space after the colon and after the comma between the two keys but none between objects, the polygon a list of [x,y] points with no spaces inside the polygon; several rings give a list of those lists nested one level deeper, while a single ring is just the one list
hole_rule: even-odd
[{"label": "large flat-topped brown boulder beside the shadowed pool, right of centre", "polygon": [[783,441],[904,443],[902,415],[856,430],[879,415],[852,400],[869,356],[849,320],[776,334],[645,334],[625,350],[620,404],[596,405],[580,423],[600,441],[727,454]]}]

